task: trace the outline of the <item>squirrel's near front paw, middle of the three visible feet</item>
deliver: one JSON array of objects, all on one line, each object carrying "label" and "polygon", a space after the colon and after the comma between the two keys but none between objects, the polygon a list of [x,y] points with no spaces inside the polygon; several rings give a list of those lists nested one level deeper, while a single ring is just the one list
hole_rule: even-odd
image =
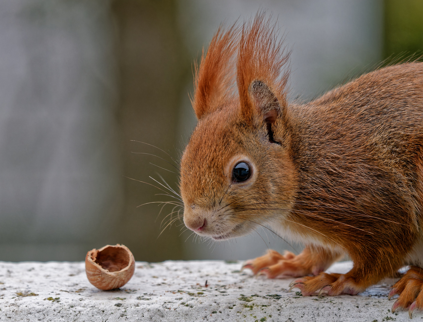
[{"label": "squirrel's near front paw, middle of the three visible feet", "polygon": [[305,276],[297,278],[289,284],[291,289],[301,290],[303,296],[308,296],[319,291],[319,295],[325,293],[330,296],[340,294],[356,295],[363,291],[363,286],[357,285],[354,278],[347,274],[320,273],[317,276]]}]

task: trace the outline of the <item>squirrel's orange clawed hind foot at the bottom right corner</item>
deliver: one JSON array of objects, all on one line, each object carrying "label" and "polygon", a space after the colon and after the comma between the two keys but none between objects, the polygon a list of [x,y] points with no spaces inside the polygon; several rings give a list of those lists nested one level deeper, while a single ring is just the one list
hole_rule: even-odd
[{"label": "squirrel's orange clawed hind foot at the bottom right corner", "polygon": [[397,308],[408,308],[408,314],[412,317],[413,311],[423,309],[423,269],[412,266],[404,276],[392,286],[388,300],[395,294],[399,294],[398,300],[392,305],[392,312]]}]

